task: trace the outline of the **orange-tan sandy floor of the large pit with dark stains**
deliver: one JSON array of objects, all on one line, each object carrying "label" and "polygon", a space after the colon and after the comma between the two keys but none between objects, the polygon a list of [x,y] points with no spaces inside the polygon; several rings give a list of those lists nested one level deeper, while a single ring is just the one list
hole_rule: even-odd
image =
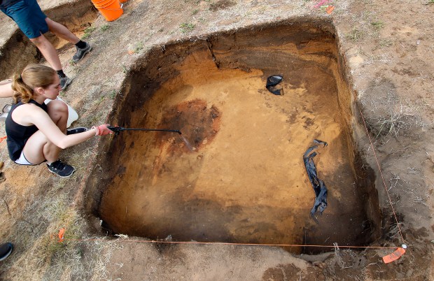
[{"label": "orange-tan sandy floor of the large pit with dark stains", "polygon": [[[309,79],[295,87],[290,71],[276,69],[285,74],[283,96],[275,96],[265,89],[262,71],[219,70],[207,52],[190,55],[177,70],[132,119],[180,129],[193,150],[176,133],[117,136],[126,149],[113,159],[118,173],[99,208],[114,232],[237,243],[367,243],[330,73],[310,69]],[[142,93],[130,94],[140,99]],[[314,158],[328,187],[319,224],[309,217],[315,195],[302,161],[314,138],[328,143]]]}]

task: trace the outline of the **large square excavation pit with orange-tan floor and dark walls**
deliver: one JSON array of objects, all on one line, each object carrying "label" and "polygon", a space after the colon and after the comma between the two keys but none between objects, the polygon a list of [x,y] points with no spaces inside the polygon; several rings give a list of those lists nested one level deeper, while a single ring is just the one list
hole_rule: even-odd
[{"label": "large square excavation pit with orange-tan floor and dark walls", "polygon": [[[125,80],[111,123],[182,134],[123,131],[104,140],[87,210],[111,233],[151,239],[368,245],[378,238],[374,174],[353,141],[360,124],[334,34],[331,24],[300,21],[151,50]],[[274,74],[283,75],[281,96],[265,89]],[[328,143],[314,158],[328,187],[319,224],[309,216],[315,194],[302,157],[315,138]]]}]

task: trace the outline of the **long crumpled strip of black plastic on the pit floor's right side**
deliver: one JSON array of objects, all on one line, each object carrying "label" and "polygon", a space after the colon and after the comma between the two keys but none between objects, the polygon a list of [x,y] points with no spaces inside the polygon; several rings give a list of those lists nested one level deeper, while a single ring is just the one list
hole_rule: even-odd
[{"label": "long crumpled strip of black plastic on the pit floor's right side", "polygon": [[[324,147],[327,146],[327,143],[323,141],[314,140],[314,143],[323,144]],[[318,179],[318,175],[316,175],[316,166],[314,163],[314,157],[316,156],[316,152],[314,151],[318,145],[314,145],[309,147],[306,152],[303,154],[304,166],[306,167],[307,176],[311,182],[312,187],[314,187],[315,192],[315,203],[314,207],[310,211],[311,217],[315,220],[317,224],[319,224],[318,219],[315,217],[316,211],[319,211],[321,215],[323,215],[323,211],[327,208],[327,187],[322,180]],[[312,152],[312,153],[311,153]]]}]

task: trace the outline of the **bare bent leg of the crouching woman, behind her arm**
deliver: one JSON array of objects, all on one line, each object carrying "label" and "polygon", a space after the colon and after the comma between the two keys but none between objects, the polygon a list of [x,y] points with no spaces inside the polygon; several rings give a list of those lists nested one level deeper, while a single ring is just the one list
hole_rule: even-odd
[{"label": "bare bent leg of the crouching woman, behind her arm", "polygon": [[[68,106],[63,101],[50,101],[48,103],[48,115],[61,131],[66,134],[66,122],[68,120]],[[36,131],[27,141],[23,152],[27,161],[32,164],[40,164],[44,160],[52,163],[59,159],[61,149],[50,142],[42,131]]]}]

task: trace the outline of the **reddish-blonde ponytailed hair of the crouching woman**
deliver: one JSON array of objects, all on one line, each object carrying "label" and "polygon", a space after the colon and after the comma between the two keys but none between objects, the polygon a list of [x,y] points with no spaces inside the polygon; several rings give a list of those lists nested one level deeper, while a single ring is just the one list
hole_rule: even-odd
[{"label": "reddish-blonde ponytailed hair of the crouching woman", "polygon": [[12,89],[15,91],[13,99],[15,103],[22,101],[28,103],[34,97],[33,89],[48,86],[55,82],[56,71],[41,64],[29,64],[21,74],[13,75]]}]

